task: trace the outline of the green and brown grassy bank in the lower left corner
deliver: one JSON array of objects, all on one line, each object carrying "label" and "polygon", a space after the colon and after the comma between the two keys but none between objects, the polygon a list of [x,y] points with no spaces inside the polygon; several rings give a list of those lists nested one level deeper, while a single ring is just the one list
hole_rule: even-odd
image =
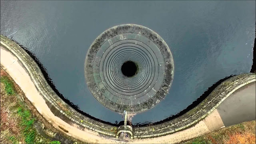
[{"label": "green and brown grassy bank in the lower left corner", "polygon": [[84,144],[59,132],[0,67],[0,144]]}]

